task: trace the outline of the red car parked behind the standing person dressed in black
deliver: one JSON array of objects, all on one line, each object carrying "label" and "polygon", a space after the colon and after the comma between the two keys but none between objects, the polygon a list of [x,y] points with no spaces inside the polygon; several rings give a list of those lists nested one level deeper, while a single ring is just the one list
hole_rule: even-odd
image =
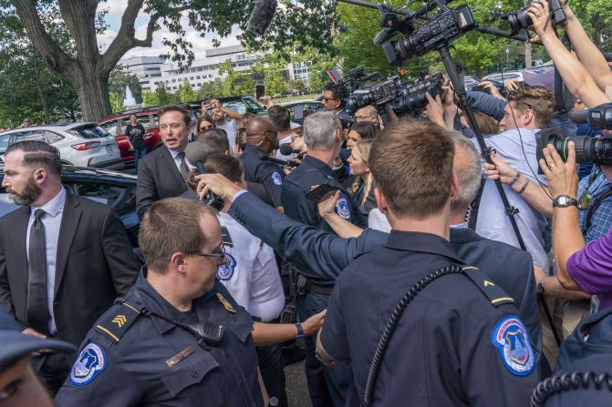
[{"label": "red car parked behind the standing person dressed in black", "polygon": [[99,126],[108,131],[117,140],[121,158],[126,164],[132,164],[134,161],[134,154],[130,151],[128,137],[125,135],[125,129],[130,124],[130,115],[136,115],[138,122],[144,127],[144,142],[147,152],[150,152],[161,145],[160,118],[157,114],[159,109],[160,107],[143,107],[127,110],[99,120]]}]

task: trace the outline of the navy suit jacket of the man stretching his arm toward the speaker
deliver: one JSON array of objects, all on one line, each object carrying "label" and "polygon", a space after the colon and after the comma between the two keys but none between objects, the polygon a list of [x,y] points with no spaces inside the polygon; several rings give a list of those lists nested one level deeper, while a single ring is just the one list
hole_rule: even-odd
[{"label": "navy suit jacket of the man stretching his arm toward the speaker", "polygon": [[[389,238],[389,233],[373,229],[364,229],[357,238],[338,238],[262,205],[249,193],[233,201],[229,214],[283,259],[290,259],[298,267],[306,265],[329,280],[336,279],[353,259],[379,248]],[[513,297],[532,340],[542,349],[531,255],[503,242],[484,239],[472,229],[451,229],[451,245],[465,264],[478,267]]]}]

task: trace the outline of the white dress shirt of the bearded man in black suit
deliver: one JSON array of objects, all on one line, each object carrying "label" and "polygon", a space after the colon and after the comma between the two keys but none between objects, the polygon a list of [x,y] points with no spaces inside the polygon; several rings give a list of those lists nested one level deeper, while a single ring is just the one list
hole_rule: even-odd
[{"label": "white dress shirt of the bearded man in black suit", "polygon": [[29,261],[30,253],[30,229],[34,223],[34,213],[36,209],[43,209],[45,215],[40,219],[45,227],[45,246],[47,248],[47,309],[51,320],[49,321],[49,332],[55,333],[56,319],[53,313],[54,290],[56,287],[56,265],[57,265],[57,241],[59,239],[59,226],[64,214],[64,204],[66,203],[66,189],[61,188],[55,198],[49,200],[40,208],[30,207],[30,218],[27,221],[26,231],[26,257]]}]

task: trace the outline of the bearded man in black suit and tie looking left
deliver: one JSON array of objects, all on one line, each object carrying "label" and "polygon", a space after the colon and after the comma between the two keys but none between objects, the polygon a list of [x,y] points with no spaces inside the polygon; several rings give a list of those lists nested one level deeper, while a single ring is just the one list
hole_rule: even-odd
[{"label": "bearded man in black suit and tie looking left", "polygon": [[[5,151],[3,187],[23,208],[0,218],[0,306],[23,333],[79,345],[91,324],[136,280],[138,266],[109,206],[67,192],[57,148],[40,141]],[[67,357],[36,365],[52,391]]]}]

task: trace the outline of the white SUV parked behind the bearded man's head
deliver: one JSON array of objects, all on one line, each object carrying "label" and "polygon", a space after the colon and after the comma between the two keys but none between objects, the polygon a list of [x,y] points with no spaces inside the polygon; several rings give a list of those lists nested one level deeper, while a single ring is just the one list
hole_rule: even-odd
[{"label": "white SUV parked behind the bearded man's head", "polygon": [[0,133],[0,157],[11,144],[41,140],[56,147],[62,162],[71,166],[123,169],[119,146],[98,123],[70,123],[16,128]]}]

